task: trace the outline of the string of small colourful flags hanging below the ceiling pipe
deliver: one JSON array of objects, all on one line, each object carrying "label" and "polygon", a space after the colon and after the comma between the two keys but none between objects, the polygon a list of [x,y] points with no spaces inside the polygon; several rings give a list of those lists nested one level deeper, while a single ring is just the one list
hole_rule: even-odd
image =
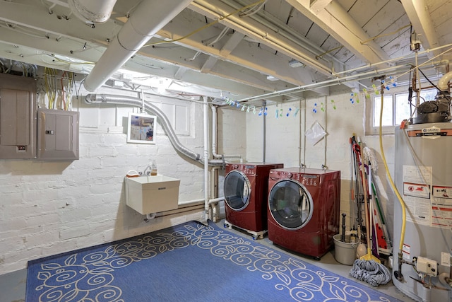
[{"label": "string of small colourful flags hanging below the ceiling pipe", "polygon": [[[390,76],[389,82],[386,82],[385,80],[381,80],[381,85],[384,88],[386,88],[387,91],[389,91],[391,89],[391,86],[397,87],[397,82],[396,82],[396,79],[393,78],[393,76]],[[375,84],[372,84],[372,88],[376,95],[380,94],[379,88]],[[362,89],[362,93],[364,93],[364,98],[366,98],[367,100],[370,99],[370,93],[369,93],[369,91],[367,91],[366,88]],[[228,98],[226,96],[222,96],[222,99],[225,100],[225,103],[227,105],[236,107],[238,109],[242,108],[241,111],[244,111],[246,113],[252,112],[254,115],[257,113],[257,115],[259,117],[268,115],[267,107],[264,107],[264,106],[256,107],[255,105],[242,104],[242,103],[239,103],[237,100],[232,100],[232,98]],[[352,104],[359,103],[359,92],[352,91],[352,93],[350,93],[350,103],[352,103]],[[318,107],[322,112],[325,112],[326,104],[323,102],[321,102],[319,104],[319,106],[317,105],[317,103],[314,103],[314,108],[312,108],[312,112],[317,113]],[[331,107],[333,108],[333,110],[337,109],[334,100],[331,100]],[[284,113],[283,111],[284,111],[283,108],[280,108],[280,109],[277,108],[275,111],[275,118],[284,117],[284,116],[285,117],[290,117],[290,116],[296,117],[299,112],[299,108],[297,107],[297,108],[292,109],[290,107],[287,109],[287,112]]]}]

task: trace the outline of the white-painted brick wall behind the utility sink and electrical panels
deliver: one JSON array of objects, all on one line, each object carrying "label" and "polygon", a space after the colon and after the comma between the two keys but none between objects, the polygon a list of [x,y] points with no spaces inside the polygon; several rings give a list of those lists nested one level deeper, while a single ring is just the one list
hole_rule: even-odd
[{"label": "white-painted brick wall behind the utility sink and electrical panels", "polygon": [[[179,135],[179,141],[203,154],[202,104],[149,95],[146,99],[167,110],[172,103],[188,104],[189,134]],[[42,105],[42,98],[39,101]],[[137,108],[87,105],[79,98],[73,110],[81,112],[79,160],[0,160],[0,274],[23,269],[28,260],[203,218],[201,206],[157,215],[146,223],[143,215],[126,206],[124,175],[143,170],[153,159],[158,173],[181,180],[179,204],[204,198],[203,165],[180,156],[160,124],[156,144],[127,144],[127,116],[139,112]],[[227,123],[237,124],[234,116],[244,121],[238,112],[225,112]],[[244,148],[244,139],[239,144]]]}]

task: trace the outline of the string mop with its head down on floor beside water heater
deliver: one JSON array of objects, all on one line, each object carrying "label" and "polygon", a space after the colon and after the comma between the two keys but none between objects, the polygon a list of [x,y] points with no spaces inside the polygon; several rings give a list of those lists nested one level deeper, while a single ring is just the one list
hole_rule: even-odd
[{"label": "string mop with its head down on floor beside water heater", "polygon": [[380,260],[372,255],[370,234],[369,234],[369,212],[367,206],[367,185],[364,182],[364,165],[360,167],[362,177],[362,187],[364,190],[364,214],[366,219],[366,239],[367,239],[367,254],[360,257],[353,262],[353,267],[350,270],[352,277],[361,281],[366,281],[373,286],[379,286],[379,284],[386,284],[391,280],[391,272],[389,269],[381,264]]}]

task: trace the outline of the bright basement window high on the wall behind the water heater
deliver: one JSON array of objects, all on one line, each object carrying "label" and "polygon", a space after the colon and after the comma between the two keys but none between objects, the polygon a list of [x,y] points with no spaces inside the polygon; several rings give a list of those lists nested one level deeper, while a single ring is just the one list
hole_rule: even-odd
[{"label": "bright basement window high on the wall behind the water heater", "polygon": [[[414,115],[416,93],[412,94],[412,105],[406,93],[384,93],[383,94],[383,117],[381,119],[381,133],[394,134],[394,129],[403,120],[408,120]],[[420,93],[420,103],[434,100],[436,89],[425,89]],[[378,135],[380,127],[381,95],[374,95],[366,102],[366,134]]]}]

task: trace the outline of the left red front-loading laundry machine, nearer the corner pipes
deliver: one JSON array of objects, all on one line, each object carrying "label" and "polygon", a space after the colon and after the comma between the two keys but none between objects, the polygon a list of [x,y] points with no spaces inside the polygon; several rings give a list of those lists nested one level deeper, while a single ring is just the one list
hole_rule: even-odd
[{"label": "left red front-loading laundry machine, nearer the corner pipes", "polygon": [[225,227],[242,228],[263,238],[267,231],[268,173],[283,163],[227,163],[225,170]]}]

